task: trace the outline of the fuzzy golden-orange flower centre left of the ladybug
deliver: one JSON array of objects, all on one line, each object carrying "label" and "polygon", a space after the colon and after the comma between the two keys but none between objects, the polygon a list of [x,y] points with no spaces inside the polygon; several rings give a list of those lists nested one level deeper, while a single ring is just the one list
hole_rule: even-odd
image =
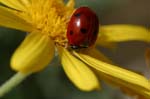
[{"label": "fuzzy golden-orange flower centre left of the ladybug", "polygon": [[35,31],[49,36],[55,44],[66,46],[67,23],[74,10],[66,5],[63,0],[31,0],[26,18],[36,27]]}]

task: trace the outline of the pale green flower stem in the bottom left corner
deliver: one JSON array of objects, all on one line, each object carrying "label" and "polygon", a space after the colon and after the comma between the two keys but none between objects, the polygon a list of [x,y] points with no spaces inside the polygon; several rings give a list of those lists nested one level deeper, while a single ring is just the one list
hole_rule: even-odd
[{"label": "pale green flower stem in the bottom left corner", "polygon": [[10,79],[8,79],[4,84],[0,86],[0,98],[7,94],[11,89],[20,84],[27,76],[31,73],[16,73]]}]

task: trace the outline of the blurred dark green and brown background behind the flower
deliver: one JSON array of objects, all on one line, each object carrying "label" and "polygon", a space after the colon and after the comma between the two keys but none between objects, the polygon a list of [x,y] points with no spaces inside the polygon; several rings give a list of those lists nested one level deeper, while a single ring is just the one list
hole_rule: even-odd
[{"label": "blurred dark green and brown background behind the flower", "polygon": [[[67,1],[67,0],[66,0]],[[76,0],[76,7],[89,6],[99,16],[100,24],[137,24],[150,27],[150,0]],[[10,57],[26,33],[0,28],[0,84],[15,72],[10,69]],[[149,76],[143,42],[119,43],[115,51],[100,50],[116,64]],[[82,92],[66,77],[58,57],[42,72],[33,74],[2,99],[129,99],[120,90],[102,82],[103,90]]]}]

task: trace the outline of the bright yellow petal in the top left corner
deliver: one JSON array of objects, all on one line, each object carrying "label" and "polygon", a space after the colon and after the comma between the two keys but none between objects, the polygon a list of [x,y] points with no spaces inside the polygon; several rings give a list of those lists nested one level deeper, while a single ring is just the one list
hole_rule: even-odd
[{"label": "bright yellow petal in the top left corner", "polygon": [[29,0],[0,0],[0,3],[19,11],[25,11],[27,10],[25,6],[29,4]]}]

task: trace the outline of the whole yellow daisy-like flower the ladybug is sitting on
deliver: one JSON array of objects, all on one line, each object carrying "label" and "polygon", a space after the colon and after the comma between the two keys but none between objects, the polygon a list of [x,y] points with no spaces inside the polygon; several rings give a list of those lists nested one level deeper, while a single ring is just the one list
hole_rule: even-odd
[{"label": "whole yellow daisy-like flower the ladybug is sitting on", "polygon": [[[150,83],[144,76],[112,65],[95,46],[112,47],[116,42],[140,40],[150,42],[150,33],[141,26],[100,26],[95,46],[78,51],[66,48],[66,27],[74,0],[0,0],[0,26],[28,33],[11,58],[11,68],[20,75],[39,72],[58,51],[62,66],[80,90],[100,89],[98,78],[140,97],[150,98]],[[13,79],[13,81],[15,81]],[[2,89],[0,87],[0,95]],[[4,92],[3,92],[4,94]]]}]

